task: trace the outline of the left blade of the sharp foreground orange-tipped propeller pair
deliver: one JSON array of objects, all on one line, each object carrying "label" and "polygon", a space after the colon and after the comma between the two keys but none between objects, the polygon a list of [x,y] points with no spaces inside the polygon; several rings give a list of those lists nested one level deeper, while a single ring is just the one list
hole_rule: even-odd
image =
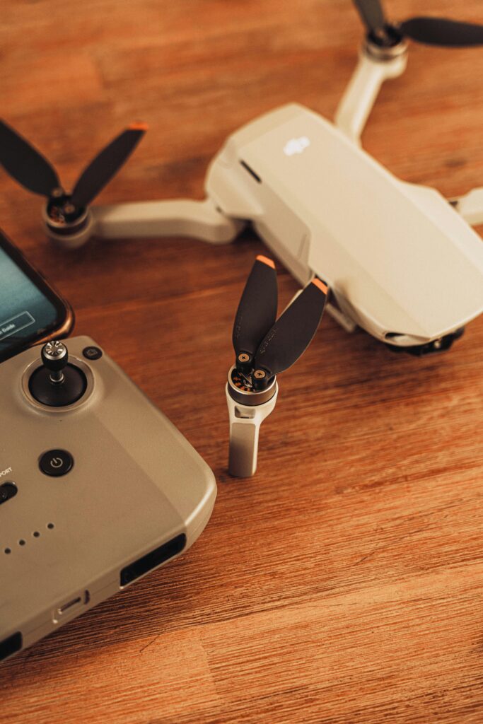
[{"label": "left blade of the sharp foreground orange-tipped propeller pair", "polygon": [[277,319],[277,272],[272,259],[257,256],[245,284],[233,325],[233,348],[239,369],[251,367],[253,355]]}]

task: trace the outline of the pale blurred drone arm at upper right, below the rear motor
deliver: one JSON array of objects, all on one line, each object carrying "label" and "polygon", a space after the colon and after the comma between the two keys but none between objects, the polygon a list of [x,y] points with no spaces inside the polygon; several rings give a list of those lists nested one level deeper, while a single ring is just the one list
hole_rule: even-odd
[{"label": "pale blurred drone arm at upper right, below the rear motor", "polygon": [[356,70],[335,113],[335,125],[348,135],[350,140],[361,143],[361,133],[382,83],[401,75],[406,70],[406,64],[406,52],[377,59],[366,49],[361,51]]}]

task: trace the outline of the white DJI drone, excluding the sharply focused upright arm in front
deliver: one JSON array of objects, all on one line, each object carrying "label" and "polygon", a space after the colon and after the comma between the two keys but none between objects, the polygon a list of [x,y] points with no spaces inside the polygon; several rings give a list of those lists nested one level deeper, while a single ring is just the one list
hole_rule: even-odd
[{"label": "white DJI drone, excluding the sharply focused upright arm in front", "polygon": [[483,311],[483,188],[446,199],[391,174],[361,146],[379,90],[400,76],[408,41],[483,45],[483,26],[436,17],[387,20],[379,0],[353,0],[366,35],[334,122],[288,104],[234,132],[211,161],[206,199],[91,206],[146,130],[122,132],[89,164],[72,193],[7,123],[0,164],[46,198],[43,225],[67,248],[95,235],[196,237],[227,243],[251,224],[301,285],[322,279],[327,311],[395,351],[448,350]]}]

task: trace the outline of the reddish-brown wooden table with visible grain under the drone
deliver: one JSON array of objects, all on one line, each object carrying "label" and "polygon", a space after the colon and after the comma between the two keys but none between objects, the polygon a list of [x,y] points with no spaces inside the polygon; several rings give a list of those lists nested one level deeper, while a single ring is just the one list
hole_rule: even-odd
[{"label": "reddish-brown wooden table with visible grain under the drone", "polygon": [[[476,0],[424,12],[483,20]],[[286,101],[332,117],[361,39],[349,0],[4,0],[1,14],[1,113],[67,186],[149,123],[104,202],[202,198],[224,138]],[[482,82],[481,50],[411,47],[366,148],[448,197],[482,184]],[[263,245],[67,253],[39,207],[0,174],[1,226],[206,458],[219,497],[188,555],[0,667],[0,723],[480,723],[483,319],[416,359],[326,316],[282,377],[256,477],[235,481],[224,379]],[[296,285],[280,271],[283,305]]]}]

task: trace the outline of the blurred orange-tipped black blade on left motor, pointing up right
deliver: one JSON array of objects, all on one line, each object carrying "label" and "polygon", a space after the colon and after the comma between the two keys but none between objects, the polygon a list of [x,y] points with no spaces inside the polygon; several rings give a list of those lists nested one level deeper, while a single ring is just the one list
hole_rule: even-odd
[{"label": "blurred orange-tipped black blade on left motor, pointing up right", "polygon": [[96,158],[80,174],[80,178],[75,184],[70,199],[74,206],[83,209],[96,198],[114,174],[125,164],[146,130],[147,126],[144,124],[133,124],[127,130],[119,133],[117,138],[114,138],[97,154]]}]

